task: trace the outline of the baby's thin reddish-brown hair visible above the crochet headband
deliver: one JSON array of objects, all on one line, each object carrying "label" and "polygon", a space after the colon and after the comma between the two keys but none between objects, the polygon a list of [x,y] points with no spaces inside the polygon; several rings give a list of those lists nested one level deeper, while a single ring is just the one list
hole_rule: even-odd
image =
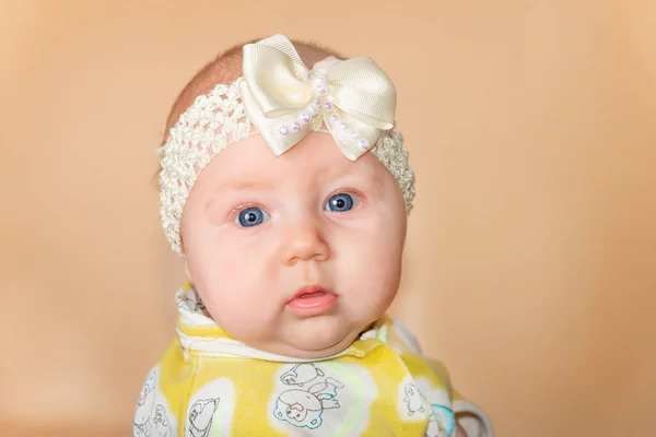
[{"label": "baby's thin reddish-brown hair visible above the crochet headband", "polygon": [[[177,96],[171,108],[171,113],[168,113],[162,144],[166,143],[169,129],[175,125],[179,116],[191,106],[196,97],[208,94],[216,84],[230,84],[242,76],[242,62],[244,60],[243,48],[246,44],[253,44],[260,39],[261,38],[250,39],[229,48],[196,73]],[[296,48],[301,60],[307,68],[312,68],[316,62],[329,56],[344,59],[337,51],[316,43],[297,39],[291,39],[291,42]]]}]

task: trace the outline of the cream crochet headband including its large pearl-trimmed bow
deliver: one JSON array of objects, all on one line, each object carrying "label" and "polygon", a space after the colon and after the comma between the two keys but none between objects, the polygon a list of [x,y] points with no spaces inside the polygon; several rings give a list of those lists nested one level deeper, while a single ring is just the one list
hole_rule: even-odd
[{"label": "cream crochet headband including its large pearl-trimmed bow", "polygon": [[398,181],[410,213],[414,174],[394,129],[396,92],[371,58],[329,57],[311,71],[292,43],[274,35],[244,46],[243,72],[198,96],[160,149],[160,217],[176,253],[183,255],[180,220],[200,172],[223,149],[256,133],[274,155],[309,131],[330,133],[351,161],[373,153]]}]

